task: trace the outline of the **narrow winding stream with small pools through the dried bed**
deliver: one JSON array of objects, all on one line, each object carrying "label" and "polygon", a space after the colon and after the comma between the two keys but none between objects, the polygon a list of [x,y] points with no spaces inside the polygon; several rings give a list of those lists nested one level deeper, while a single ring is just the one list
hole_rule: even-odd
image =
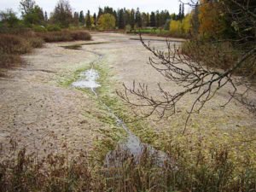
[{"label": "narrow winding stream with small pools through the dried bed", "polygon": [[[128,134],[128,137],[125,141],[119,142],[116,149],[113,151],[108,152],[106,159],[105,159],[105,166],[119,166],[122,160],[124,160],[124,155],[129,155],[134,158],[136,162],[139,161],[140,155],[142,154],[145,148],[148,150],[149,154],[154,155],[157,160],[157,164],[159,166],[163,166],[163,160],[167,160],[167,154],[157,151],[155,148],[148,146],[144,143],[141,143],[140,139],[136,137],[128,127],[125,125],[125,122],[122,119],[119,119],[117,115],[113,113],[113,110],[109,108],[104,102],[102,102],[101,97],[96,93],[96,88],[100,87],[101,84],[97,82],[97,79],[100,78],[99,73],[94,69],[94,65],[96,62],[102,60],[102,55],[94,52],[94,51],[87,51],[93,53],[98,56],[95,61],[90,63],[90,69],[86,70],[79,75],[79,80],[73,82],[72,86],[75,88],[88,88],[94,95],[97,97],[98,101],[102,103],[102,105],[108,109],[108,112],[113,116],[116,120],[116,124],[121,126]],[[125,152],[125,154],[120,154],[121,152]]]}]

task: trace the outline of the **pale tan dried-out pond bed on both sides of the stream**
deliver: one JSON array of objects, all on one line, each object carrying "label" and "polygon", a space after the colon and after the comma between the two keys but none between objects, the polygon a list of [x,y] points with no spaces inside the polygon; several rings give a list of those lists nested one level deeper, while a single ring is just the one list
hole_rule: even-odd
[{"label": "pale tan dried-out pond bed on both sides of the stream", "polygon": [[[162,82],[167,90],[176,92],[179,87],[160,76],[147,64],[150,55],[141,43],[131,40],[131,36],[113,33],[92,34],[94,42],[108,44],[84,45],[83,49],[64,49],[61,45],[81,44],[88,42],[45,44],[44,48],[36,49],[33,54],[24,58],[26,67],[9,71],[9,78],[0,79],[0,143],[2,150],[6,148],[11,138],[18,141],[19,146],[28,150],[38,149],[61,150],[64,143],[70,151],[80,149],[90,151],[94,141],[102,136],[99,129],[107,129],[109,125],[86,113],[101,113],[94,108],[92,96],[72,87],[63,87],[61,82],[74,77],[74,72],[83,67],[89,67],[96,60],[96,55],[87,52],[96,51],[103,55],[98,67],[111,67],[112,80],[115,88],[121,88],[122,82],[132,83],[132,80],[147,83],[149,90],[157,96],[157,83]],[[156,38],[159,39],[159,38]],[[165,43],[152,41],[154,46],[162,48]],[[114,91],[114,89],[113,89]],[[222,127],[235,129],[239,126],[256,127],[255,116],[236,102],[230,102],[227,108],[218,110],[219,103],[224,102],[227,90],[222,90],[202,113],[191,117],[189,126],[205,128]],[[193,97],[185,98],[178,106],[180,113],[166,122],[153,123],[154,129],[170,129],[172,126],[183,127],[186,117],[185,109],[194,101]],[[45,141],[47,144],[45,144]],[[2,151],[3,152],[3,151]]]}]

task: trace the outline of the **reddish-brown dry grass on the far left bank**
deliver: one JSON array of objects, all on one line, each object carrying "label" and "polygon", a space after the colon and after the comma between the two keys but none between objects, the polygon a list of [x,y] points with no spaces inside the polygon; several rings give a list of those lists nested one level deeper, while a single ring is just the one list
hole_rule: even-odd
[{"label": "reddish-brown dry grass on the far left bank", "polygon": [[0,34],[0,76],[10,67],[24,63],[20,55],[43,47],[44,42],[63,42],[75,40],[90,40],[90,34],[82,31],[62,32],[20,32],[19,34]]}]

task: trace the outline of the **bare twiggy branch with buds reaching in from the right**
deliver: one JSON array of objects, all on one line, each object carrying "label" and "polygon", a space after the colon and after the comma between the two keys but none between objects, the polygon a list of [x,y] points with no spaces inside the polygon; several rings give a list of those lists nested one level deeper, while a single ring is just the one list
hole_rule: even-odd
[{"label": "bare twiggy branch with buds reaching in from the right", "polygon": [[[231,2],[235,2],[235,0],[231,0]],[[192,3],[195,2],[192,1]],[[248,15],[247,18],[252,19],[253,17],[253,22],[255,23],[254,15],[250,11],[247,12],[248,9],[246,7],[239,4],[238,9],[240,9],[241,12],[246,12],[246,15]],[[235,12],[232,14],[233,16],[236,15]],[[237,19],[236,16],[234,16],[234,18],[234,20]],[[236,101],[246,105],[252,112],[256,111],[255,102],[247,99],[249,92],[256,92],[253,90],[252,84],[248,85],[247,83],[247,90],[244,91],[244,93],[237,93],[237,87],[246,84],[243,82],[243,79],[247,78],[241,78],[236,82],[237,78],[232,77],[245,62],[255,63],[255,59],[252,59],[256,54],[255,44],[250,44],[247,49],[244,49],[243,53],[239,55],[230,67],[221,70],[216,67],[223,65],[225,57],[232,53],[229,53],[228,51],[220,51],[219,46],[224,42],[230,42],[229,39],[223,39],[212,43],[216,44],[216,48],[212,49],[212,52],[207,52],[208,50],[201,49],[201,42],[198,39],[190,40],[195,46],[194,49],[198,49],[195,49],[194,54],[187,55],[180,53],[175,45],[172,47],[171,41],[166,41],[166,51],[163,51],[154,49],[149,43],[146,44],[141,35],[140,38],[145,49],[148,49],[153,55],[149,57],[148,64],[151,67],[154,67],[154,69],[165,77],[167,81],[175,82],[183,87],[183,90],[177,93],[170,93],[158,84],[160,96],[151,96],[148,91],[148,85],[146,84],[136,84],[134,81],[131,88],[124,84],[125,92],[118,91],[118,95],[132,106],[137,108],[148,108],[140,118],[147,118],[153,113],[157,113],[159,119],[164,117],[168,118],[176,113],[177,104],[183,96],[196,95],[195,101],[187,112],[188,116],[183,129],[184,133],[191,114],[199,113],[201,108],[203,108],[219,90],[228,85],[231,89],[229,92],[230,96],[227,98],[227,102],[220,106],[221,108],[224,108],[235,98]],[[248,37],[244,36],[241,37],[241,39],[235,39],[235,41],[242,42],[247,39]],[[136,96],[140,102],[132,102],[131,96]]]}]

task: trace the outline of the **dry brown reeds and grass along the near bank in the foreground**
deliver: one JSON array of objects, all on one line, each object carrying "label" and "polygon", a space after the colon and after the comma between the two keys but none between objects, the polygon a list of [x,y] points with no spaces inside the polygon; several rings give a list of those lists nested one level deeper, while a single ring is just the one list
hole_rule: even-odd
[{"label": "dry brown reeds and grass along the near bank in the foreground", "polygon": [[12,158],[0,164],[0,191],[255,191],[256,170],[249,159],[237,172],[231,148],[204,148],[202,139],[184,148],[193,137],[175,137],[166,141],[163,164],[149,148],[143,148],[138,161],[119,148],[119,162],[111,167],[84,152],[70,159],[67,148],[38,160],[26,149],[16,151],[12,141]]}]

